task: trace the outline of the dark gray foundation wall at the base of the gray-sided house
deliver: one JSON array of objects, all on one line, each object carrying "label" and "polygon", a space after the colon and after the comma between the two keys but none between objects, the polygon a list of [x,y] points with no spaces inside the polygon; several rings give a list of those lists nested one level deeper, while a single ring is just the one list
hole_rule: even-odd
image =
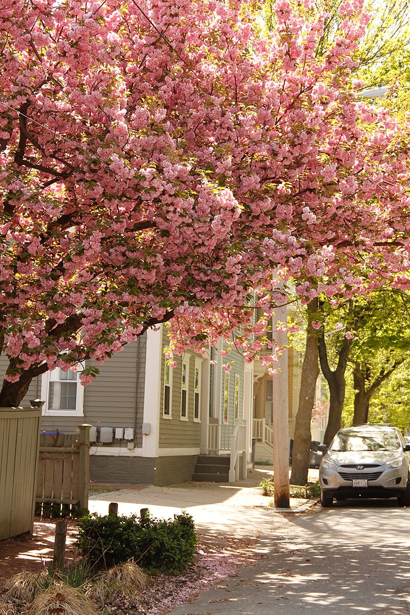
[{"label": "dark gray foundation wall at the base of the gray-sided house", "polygon": [[113,485],[173,485],[192,480],[197,455],[115,457],[90,455],[90,480]]}]

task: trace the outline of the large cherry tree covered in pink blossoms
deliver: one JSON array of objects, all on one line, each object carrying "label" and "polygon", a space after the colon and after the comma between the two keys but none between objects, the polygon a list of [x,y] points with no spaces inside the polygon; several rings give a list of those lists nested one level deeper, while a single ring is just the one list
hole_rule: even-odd
[{"label": "large cherry tree covered in pink blossoms", "polygon": [[268,36],[240,0],[2,3],[2,406],[171,319],[173,351],[242,327],[251,360],[272,271],[304,301],[409,284],[408,125],[351,79],[368,16],[318,58],[304,7]]}]

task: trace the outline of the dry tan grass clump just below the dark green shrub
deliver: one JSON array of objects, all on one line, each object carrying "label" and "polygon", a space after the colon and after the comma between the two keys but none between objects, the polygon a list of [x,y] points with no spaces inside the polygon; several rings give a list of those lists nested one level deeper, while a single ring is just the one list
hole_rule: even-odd
[{"label": "dry tan grass clump just below the dark green shrub", "polygon": [[135,597],[148,586],[150,578],[135,561],[128,560],[101,574],[87,591],[87,596],[101,605],[112,597]]}]

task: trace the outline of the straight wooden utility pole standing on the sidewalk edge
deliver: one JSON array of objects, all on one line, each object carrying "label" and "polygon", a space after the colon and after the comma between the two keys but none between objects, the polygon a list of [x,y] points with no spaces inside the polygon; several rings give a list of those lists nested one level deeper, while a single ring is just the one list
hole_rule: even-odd
[{"label": "straight wooden utility pole standing on the sidewalk edge", "polygon": [[[279,346],[287,343],[287,334],[275,331],[275,323],[286,327],[286,305],[278,306],[272,317],[273,338]],[[273,376],[272,429],[274,446],[275,506],[290,508],[289,494],[289,431],[288,431],[288,353],[282,352],[277,363],[278,373]]]}]

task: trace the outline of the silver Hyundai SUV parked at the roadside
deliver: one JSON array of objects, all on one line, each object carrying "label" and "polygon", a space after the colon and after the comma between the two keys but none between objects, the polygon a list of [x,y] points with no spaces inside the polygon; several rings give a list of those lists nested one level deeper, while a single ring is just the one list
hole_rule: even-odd
[{"label": "silver Hyundai SUV parked at the roadside", "polygon": [[397,427],[367,424],[340,429],[319,467],[321,506],[333,498],[397,498],[410,506],[410,445]]}]

